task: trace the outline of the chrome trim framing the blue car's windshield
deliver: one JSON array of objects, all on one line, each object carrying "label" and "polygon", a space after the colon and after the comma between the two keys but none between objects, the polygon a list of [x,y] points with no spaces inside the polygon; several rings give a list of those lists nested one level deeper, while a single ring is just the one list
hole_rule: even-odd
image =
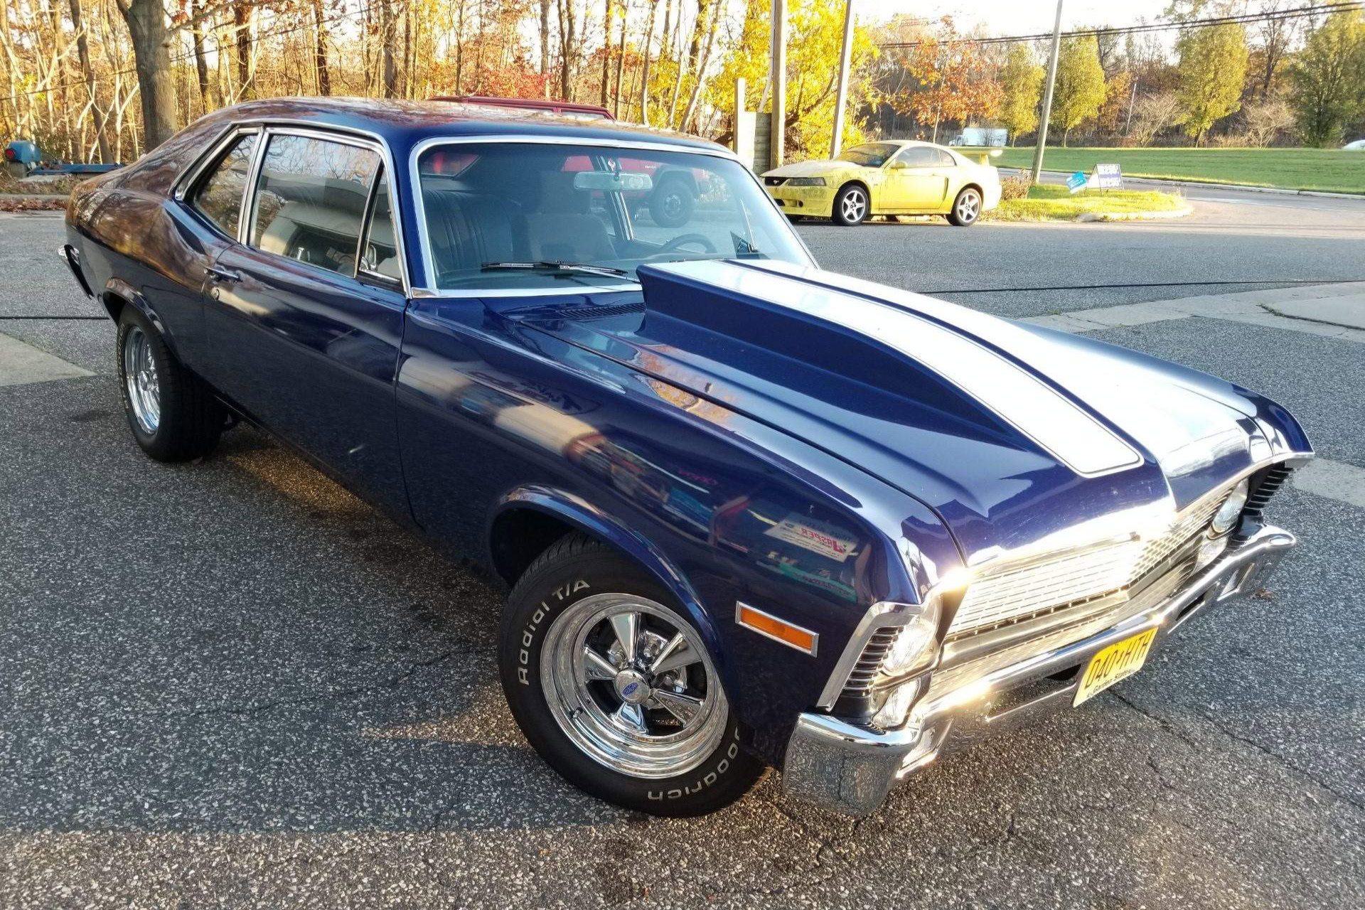
[{"label": "chrome trim framing the blue car's windshield", "polygon": [[422,201],[422,175],[418,171],[418,160],[422,157],[427,149],[434,146],[448,146],[448,145],[491,145],[491,143],[509,143],[509,145],[557,145],[557,146],[598,146],[607,149],[639,149],[643,151],[678,151],[682,154],[700,154],[710,156],[713,158],[725,158],[728,161],[734,161],[740,168],[749,175],[749,179],[767,199],[768,206],[782,220],[786,231],[796,240],[797,246],[809,259],[808,265],[811,267],[819,267],[815,262],[815,256],[811,255],[809,247],[805,246],[805,240],[801,235],[792,229],[790,222],[786,220],[786,214],[782,211],[777,201],[768,195],[768,191],[763,187],[763,180],[753,173],[744,161],[736,156],[732,150],[723,146],[717,146],[714,149],[698,149],[695,146],[672,145],[667,141],[636,141],[636,139],[594,139],[587,136],[561,136],[561,135],[534,135],[534,134],[508,134],[508,135],[463,135],[463,136],[427,136],[422,139],[412,150],[408,153],[408,180],[412,191],[412,206],[416,214],[416,228],[418,228],[418,252],[422,261],[422,270],[426,273],[426,284],[420,288],[411,288],[410,296],[415,299],[430,299],[430,297],[558,297],[558,296],[575,296],[587,293],[602,293],[612,291],[640,291],[639,282],[631,284],[584,284],[576,288],[437,288],[435,287],[435,266],[431,258],[431,243],[427,237],[426,225],[426,206]]}]

